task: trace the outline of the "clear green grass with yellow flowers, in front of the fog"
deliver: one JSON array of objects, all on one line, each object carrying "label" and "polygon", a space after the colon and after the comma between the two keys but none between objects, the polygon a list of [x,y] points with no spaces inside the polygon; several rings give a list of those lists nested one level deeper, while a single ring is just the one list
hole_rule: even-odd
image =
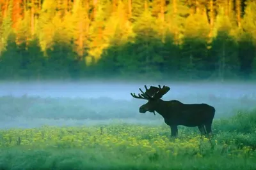
[{"label": "clear green grass with yellow flowers, in front of the fog", "polygon": [[0,131],[0,169],[256,169],[256,110],[196,128],[95,125]]}]

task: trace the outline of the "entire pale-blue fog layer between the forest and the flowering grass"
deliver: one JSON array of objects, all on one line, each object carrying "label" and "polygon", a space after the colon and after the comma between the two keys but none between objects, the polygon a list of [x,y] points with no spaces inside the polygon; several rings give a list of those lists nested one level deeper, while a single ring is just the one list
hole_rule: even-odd
[{"label": "entire pale-blue fog layer between the forest and the flowering grass", "polygon": [[216,117],[228,117],[256,106],[256,84],[250,83],[1,83],[1,128],[41,125],[95,125],[113,122],[163,124],[152,113],[140,114],[145,100],[133,99],[144,85],[167,85],[164,100],[207,103]]}]

